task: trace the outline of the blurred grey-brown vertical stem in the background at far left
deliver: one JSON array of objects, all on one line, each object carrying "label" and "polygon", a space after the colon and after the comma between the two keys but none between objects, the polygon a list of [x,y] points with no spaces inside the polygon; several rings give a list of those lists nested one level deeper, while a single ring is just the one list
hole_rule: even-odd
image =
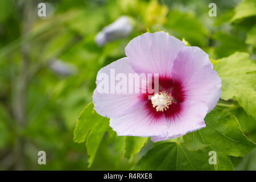
[{"label": "blurred grey-brown vertical stem in the background at far left", "polygon": [[[22,35],[27,34],[30,31],[32,23],[34,22],[34,1],[27,0],[24,2],[23,9],[23,24]],[[26,127],[26,114],[27,114],[27,86],[28,86],[28,69],[30,64],[29,52],[30,46],[28,43],[24,43],[21,47],[22,65],[20,68],[20,75],[18,80],[14,79],[14,99],[13,99],[13,113],[18,127],[21,131]],[[18,139],[14,146],[15,155],[15,170],[24,169],[24,144],[26,142],[22,134],[18,133]]]}]

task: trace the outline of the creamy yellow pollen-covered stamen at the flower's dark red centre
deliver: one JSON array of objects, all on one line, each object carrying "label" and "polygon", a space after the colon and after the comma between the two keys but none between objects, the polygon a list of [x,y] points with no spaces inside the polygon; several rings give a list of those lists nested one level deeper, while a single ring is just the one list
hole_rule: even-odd
[{"label": "creamy yellow pollen-covered stamen at the flower's dark red centre", "polygon": [[165,91],[159,92],[151,97],[151,102],[156,111],[164,111],[172,104],[172,96]]}]

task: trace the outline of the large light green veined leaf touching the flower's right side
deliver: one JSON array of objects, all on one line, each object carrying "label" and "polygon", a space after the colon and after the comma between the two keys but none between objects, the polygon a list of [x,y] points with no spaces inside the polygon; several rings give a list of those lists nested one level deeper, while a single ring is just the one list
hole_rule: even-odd
[{"label": "large light green veined leaf touching the flower's right side", "polygon": [[221,98],[237,98],[247,114],[256,118],[256,64],[249,60],[249,53],[236,52],[220,59],[214,69],[222,80]]}]

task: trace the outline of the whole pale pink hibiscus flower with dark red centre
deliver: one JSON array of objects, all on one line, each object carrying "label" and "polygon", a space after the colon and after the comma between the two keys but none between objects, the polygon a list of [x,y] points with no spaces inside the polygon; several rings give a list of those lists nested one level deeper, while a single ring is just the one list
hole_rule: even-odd
[{"label": "whole pale pink hibiscus flower with dark red centre", "polygon": [[[205,127],[204,118],[221,96],[221,79],[199,47],[187,47],[166,32],[137,36],[123,57],[100,69],[93,93],[94,109],[110,118],[117,135],[151,137],[156,142],[180,137]],[[102,74],[118,80],[111,72],[158,74],[158,92],[99,92]],[[109,81],[108,80],[108,81]],[[120,78],[119,78],[120,80]],[[105,80],[106,81],[106,80]],[[127,82],[127,88],[135,88]],[[142,88],[142,86],[139,86]],[[111,84],[105,85],[108,91]]]}]

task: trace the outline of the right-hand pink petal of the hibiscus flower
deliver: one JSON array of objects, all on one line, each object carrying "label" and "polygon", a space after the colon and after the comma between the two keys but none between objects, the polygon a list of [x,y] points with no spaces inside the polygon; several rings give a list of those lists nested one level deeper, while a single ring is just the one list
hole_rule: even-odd
[{"label": "right-hand pink petal of the hibiscus flower", "polygon": [[182,49],[174,61],[172,78],[181,82],[187,100],[200,101],[212,110],[221,96],[221,79],[199,47]]}]

